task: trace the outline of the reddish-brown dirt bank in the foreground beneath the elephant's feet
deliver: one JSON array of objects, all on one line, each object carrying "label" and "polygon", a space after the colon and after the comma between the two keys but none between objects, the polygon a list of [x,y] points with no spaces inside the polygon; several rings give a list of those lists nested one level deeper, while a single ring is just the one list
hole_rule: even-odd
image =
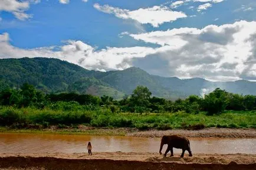
[{"label": "reddish-brown dirt bank in the foreground beneath the elephant's feet", "polygon": [[0,169],[255,169],[256,154],[185,155],[150,153],[0,154]]}]

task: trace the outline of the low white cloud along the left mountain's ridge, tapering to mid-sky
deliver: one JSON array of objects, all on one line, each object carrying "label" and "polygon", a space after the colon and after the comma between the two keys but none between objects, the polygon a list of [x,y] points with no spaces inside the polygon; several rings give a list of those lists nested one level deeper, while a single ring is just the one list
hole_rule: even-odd
[{"label": "low white cloud along the left mountain's ridge, tapering to mid-sky", "polygon": [[21,49],[9,43],[9,34],[0,34],[0,58],[51,57],[64,59],[87,69],[107,71],[125,69],[131,65],[132,58],[153,54],[155,49],[144,46],[129,48],[111,48],[96,50],[93,46],[81,41],[66,41],[63,46]]}]

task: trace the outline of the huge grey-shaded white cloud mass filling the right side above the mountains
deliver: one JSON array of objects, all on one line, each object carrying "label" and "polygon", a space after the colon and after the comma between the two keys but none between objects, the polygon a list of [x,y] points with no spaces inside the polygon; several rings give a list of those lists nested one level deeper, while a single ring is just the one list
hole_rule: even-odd
[{"label": "huge grey-shaded white cloud mass filling the right side above the mountains", "polygon": [[[133,59],[133,63],[162,76],[196,76],[215,81],[256,79],[255,35],[256,22],[247,21],[130,34],[139,41],[162,46],[156,54]],[[160,62],[159,66],[155,66],[156,62]]]}]

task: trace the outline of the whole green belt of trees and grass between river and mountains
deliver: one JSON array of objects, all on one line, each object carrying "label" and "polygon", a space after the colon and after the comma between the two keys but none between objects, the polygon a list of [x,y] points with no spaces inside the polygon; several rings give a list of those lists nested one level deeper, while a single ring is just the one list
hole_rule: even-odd
[{"label": "whole green belt of trees and grass between river and mountains", "polygon": [[253,95],[215,89],[204,98],[168,101],[144,86],[114,101],[109,96],[44,94],[34,86],[0,92],[0,125],[12,128],[66,128],[77,125],[148,129],[256,128]]}]

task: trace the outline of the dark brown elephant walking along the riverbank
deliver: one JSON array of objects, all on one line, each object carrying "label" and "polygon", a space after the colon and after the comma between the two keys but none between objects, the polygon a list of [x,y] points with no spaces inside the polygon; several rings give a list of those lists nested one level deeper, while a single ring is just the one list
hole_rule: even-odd
[{"label": "dark brown elephant walking along the riverbank", "polygon": [[164,156],[170,151],[170,156],[173,156],[173,148],[182,149],[182,154],[180,157],[182,158],[184,156],[185,151],[187,150],[189,152],[189,156],[192,156],[190,143],[188,138],[181,135],[164,135],[162,136],[161,145],[159,154],[162,155],[162,148],[163,145],[168,144],[168,148],[165,151]]}]

